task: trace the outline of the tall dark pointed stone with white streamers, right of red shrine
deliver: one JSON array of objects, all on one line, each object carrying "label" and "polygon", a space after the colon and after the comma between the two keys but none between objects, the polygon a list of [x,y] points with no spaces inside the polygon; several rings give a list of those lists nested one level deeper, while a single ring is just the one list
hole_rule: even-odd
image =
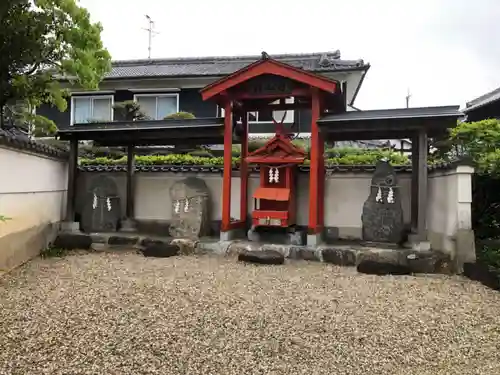
[{"label": "tall dark pointed stone with white streamers, right of red shrine", "polygon": [[387,161],[378,162],[361,216],[365,241],[402,242],[404,222],[400,195],[394,168]]}]

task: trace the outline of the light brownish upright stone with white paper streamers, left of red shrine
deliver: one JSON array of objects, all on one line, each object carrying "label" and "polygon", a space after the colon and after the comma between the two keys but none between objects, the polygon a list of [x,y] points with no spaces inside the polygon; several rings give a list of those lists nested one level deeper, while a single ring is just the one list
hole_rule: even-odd
[{"label": "light brownish upright stone with white paper streamers, left of red shrine", "polygon": [[199,238],[210,234],[210,192],[205,181],[188,177],[170,188],[174,238]]}]

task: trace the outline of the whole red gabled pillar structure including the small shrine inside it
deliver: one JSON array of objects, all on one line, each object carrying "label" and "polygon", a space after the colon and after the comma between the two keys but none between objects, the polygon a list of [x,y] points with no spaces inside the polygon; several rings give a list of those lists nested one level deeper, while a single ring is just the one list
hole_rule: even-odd
[{"label": "whole red gabled pillar structure including the small shrine inside it", "polygon": [[[252,111],[283,111],[301,108],[309,109],[311,113],[308,234],[320,234],[324,222],[325,168],[324,141],[317,121],[323,111],[332,111],[342,105],[339,104],[342,102],[342,95],[338,95],[340,94],[338,82],[273,60],[263,52],[262,59],[215,81],[200,92],[203,100],[214,100],[220,108],[224,109],[221,235],[232,229],[246,227],[248,165],[250,163],[261,166],[261,185],[253,196],[260,202],[258,208],[252,212],[252,221],[258,220],[261,223],[260,219],[265,219],[262,221],[262,223],[267,223],[265,225],[277,225],[279,219],[281,221],[279,226],[289,226],[295,222],[297,191],[293,176],[297,164],[304,160],[305,155],[290,142],[285,134],[280,132],[281,130],[264,147],[248,155],[247,114]],[[293,98],[293,103],[287,103],[288,98]],[[233,139],[236,139],[235,129],[237,128],[240,129],[238,141],[241,141],[240,218],[232,220],[232,143]],[[271,168],[278,168],[279,176],[278,182],[275,183],[276,169],[273,169],[273,186],[269,183]]]}]

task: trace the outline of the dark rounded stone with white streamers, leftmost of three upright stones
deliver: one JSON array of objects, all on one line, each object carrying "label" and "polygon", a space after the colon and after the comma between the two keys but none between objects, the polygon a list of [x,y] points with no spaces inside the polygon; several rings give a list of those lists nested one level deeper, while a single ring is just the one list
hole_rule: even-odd
[{"label": "dark rounded stone with white streamers, leftmost of three upright stones", "polygon": [[90,182],[82,210],[81,226],[87,232],[115,232],[121,218],[116,182],[100,175]]}]

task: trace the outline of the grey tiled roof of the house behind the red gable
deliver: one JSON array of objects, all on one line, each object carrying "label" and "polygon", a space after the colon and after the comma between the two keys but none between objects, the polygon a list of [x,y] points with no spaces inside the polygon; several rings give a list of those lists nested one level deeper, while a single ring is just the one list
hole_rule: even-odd
[{"label": "grey tiled roof of the house behind the red gable", "polygon": [[[273,59],[312,72],[367,70],[363,60],[342,60],[340,52],[271,55]],[[261,56],[187,57],[113,61],[105,79],[139,77],[224,76],[236,72]]]}]

